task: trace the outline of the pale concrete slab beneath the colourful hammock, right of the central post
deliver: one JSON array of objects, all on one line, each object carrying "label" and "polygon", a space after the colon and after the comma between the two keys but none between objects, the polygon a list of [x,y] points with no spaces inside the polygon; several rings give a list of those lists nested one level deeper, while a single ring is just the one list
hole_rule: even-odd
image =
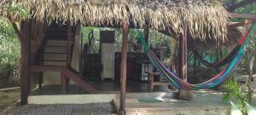
[{"label": "pale concrete slab beneath the colourful hammock, right of the central post", "polygon": [[[154,94],[154,95],[153,95]],[[191,101],[176,100],[170,93],[127,94],[126,112],[129,115],[230,115],[230,104],[222,101],[222,93],[201,90]],[[138,98],[160,97],[164,102],[139,102]],[[119,100],[115,101],[119,107]]]}]

